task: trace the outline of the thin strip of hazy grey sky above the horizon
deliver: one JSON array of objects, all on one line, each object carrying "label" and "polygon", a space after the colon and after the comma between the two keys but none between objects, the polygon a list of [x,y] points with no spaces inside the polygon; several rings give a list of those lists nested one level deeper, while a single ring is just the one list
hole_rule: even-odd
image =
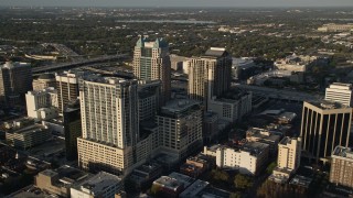
[{"label": "thin strip of hazy grey sky above the horizon", "polygon": [[0,7],[353,7],[353,0],[0,0]]}]

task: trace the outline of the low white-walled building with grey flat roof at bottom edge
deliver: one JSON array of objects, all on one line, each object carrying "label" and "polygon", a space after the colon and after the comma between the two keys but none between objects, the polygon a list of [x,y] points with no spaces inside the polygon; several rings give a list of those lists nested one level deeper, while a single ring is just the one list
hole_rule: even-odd
[{"label": "low white-walled building with grey flat roof at bottom edge", "polygon": [[110,198],[124,190],[121,177],[99,172],[81,184],[71,187],[72,198]]}]

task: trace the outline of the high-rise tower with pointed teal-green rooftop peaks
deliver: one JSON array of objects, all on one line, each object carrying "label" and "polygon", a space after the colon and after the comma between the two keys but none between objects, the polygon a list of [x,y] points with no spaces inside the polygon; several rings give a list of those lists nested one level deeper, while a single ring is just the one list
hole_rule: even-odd
[{"label": "high-rise tower with pointed teal-green rooftop peaks", "polygon": [[140,80],[161,80],[161,102],[170,99],[171,66],[168,43],[162,38],[148,42],[140,37],[133,52],[133,75]]}]

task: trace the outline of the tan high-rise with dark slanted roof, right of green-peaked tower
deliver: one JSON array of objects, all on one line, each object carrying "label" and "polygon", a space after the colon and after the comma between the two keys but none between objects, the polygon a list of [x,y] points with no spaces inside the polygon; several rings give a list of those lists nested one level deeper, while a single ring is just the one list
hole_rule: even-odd
[{"label": "tan high-rise with dark slanted roof, right of green-peaked tower", "polygon": [[189,64],[190,99],[207,101],[218,97],[231,87],[232,56],[225,48],[211,47],[205,55],[192,58]]}]

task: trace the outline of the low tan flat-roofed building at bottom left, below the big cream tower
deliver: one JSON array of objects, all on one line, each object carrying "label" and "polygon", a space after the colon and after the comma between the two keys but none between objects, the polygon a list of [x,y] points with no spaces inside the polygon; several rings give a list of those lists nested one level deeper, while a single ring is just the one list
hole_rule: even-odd
[{"label": "low tan flat-roofed building at bottom left, below the big cream tower", "polygon": [[34,177],[38,188],[60,197],[71,197],[71,187],[90,177],[90,174],[64,165],[57,169],[45,169]]}]

